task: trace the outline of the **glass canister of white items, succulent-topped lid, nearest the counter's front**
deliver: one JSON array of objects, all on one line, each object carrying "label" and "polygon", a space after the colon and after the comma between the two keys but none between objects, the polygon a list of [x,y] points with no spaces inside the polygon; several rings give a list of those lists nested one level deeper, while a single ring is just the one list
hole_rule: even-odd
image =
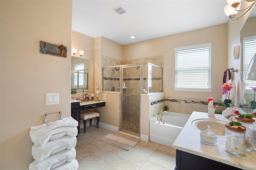
[{"label": "glass canister of white items, succulent-topped lid, nearest the counter's front", "polygon": [[235,156],[244,156],[245,132],[246,127],[234,128],[234,126],[225,124],[225,150]]}]

